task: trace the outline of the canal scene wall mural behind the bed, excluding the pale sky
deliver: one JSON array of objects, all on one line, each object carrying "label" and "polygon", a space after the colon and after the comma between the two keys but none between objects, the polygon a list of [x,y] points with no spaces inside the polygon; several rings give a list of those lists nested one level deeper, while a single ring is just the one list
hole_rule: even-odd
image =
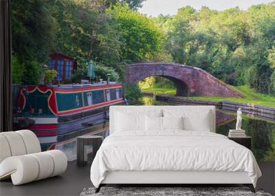
[{"label": "canal scene wall mural behind the bed, excluding the pale sky", "polygon": [[275,160],[274,3],[148,17],[110,2],[12,1],[14,130],[74,160],[78,135],[108,135],[111,105],[216,105],[228,135],[238,103],[256,158]]}]

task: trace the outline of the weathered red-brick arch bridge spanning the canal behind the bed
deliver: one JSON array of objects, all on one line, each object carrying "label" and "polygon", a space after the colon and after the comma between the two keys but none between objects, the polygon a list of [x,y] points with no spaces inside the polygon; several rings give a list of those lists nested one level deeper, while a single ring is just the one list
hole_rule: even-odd
[{"label": "weathered red-brick arch bridge spanning the canal behind the bed", "polygon": [[149,76],[171,80],[177,88],[177,96],[243,97],[203,69],[178,63],[133,63],[127,68],[126,82],[137,83]]}]

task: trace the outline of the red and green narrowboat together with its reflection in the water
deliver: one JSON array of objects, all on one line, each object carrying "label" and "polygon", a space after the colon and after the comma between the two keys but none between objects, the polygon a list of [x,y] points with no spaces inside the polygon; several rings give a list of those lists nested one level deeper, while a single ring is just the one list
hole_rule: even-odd
[{"label": "red and green narrowboat together with its reflection in the water", "polygon": [[26,85],[19,89],[14,126],[34,131],[43,150],[58,149],[78,135],[107,131],[109,106],[123,104],[120,83]]}]

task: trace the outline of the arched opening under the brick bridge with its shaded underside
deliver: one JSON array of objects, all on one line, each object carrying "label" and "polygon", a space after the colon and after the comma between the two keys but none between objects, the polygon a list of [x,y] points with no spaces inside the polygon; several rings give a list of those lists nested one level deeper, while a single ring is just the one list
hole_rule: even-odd
[{"label": "arched opening under the brick bridge with its shaded underside", "polygon": [[[159,82],[160,78],[162,78],[162,83],[157,84],[157,82]],[[145,83],[147,83],[147,84],[145,84]],[[151,83],[151,86],[150,86],[150,83]],[[138,84],[142,88],[148,88],[148,85],[149,85],[149,87],[157,86],[160,88],[163,87],[163,88],[175,89],[176,96],[188,96],[189,95],[188,85],[186,85],[186,83],[184,83],[184,81],[179,80],[174,77],[171,77],[171,76],[163,76],[163,75],[148,76],[148,77],[140,80],[138,82]]]}]

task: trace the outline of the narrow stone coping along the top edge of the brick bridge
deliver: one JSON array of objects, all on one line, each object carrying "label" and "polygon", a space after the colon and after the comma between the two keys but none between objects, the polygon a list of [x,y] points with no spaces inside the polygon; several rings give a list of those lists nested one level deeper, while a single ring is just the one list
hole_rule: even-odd
[{"label": "narrow stone coping along the top edge of the brick bridge", "polygon": [[136,66],[139,66],[139,65],[175,65],[175,66],[180,66],[180,67],[184,67],[184,68],[188,68],[188,69],[196,69],[197,71],[202,72],[203,74],[206,74],[209,78],[211,78],[212,80],[216,81],[217,83],[223,85],[225,88],[234,91],[236,94],[239,94],[239,96],[241,96],[242,98],[244,97],[243,94],[241,94],[239,91],[236,91],[236,89],[233,89],[232,87],[230,87],[229,85],[227,85],[223,81],[221,81],[218,78],[212,76],[211,74],[209,74],[208,72],[206,72],[205,70],[203,70],[203,69],[201,69],[199,67],[192,67],[192,66],[188,66],[188,65],[179,64],[179,63],[162,63],[162,62],[154,62],[154,63],[131,63],[129,65],[130,66],[135,66],[135,65]]}]

